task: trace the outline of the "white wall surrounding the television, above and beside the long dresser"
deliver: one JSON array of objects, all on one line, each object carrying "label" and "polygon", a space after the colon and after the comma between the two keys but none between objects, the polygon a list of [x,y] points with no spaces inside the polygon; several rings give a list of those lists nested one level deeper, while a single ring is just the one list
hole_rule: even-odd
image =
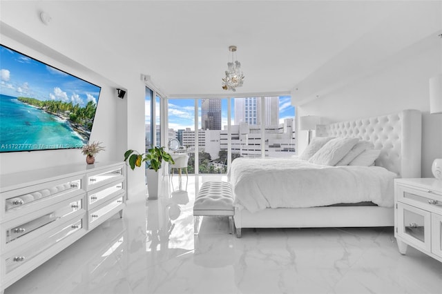
[{"label": "white wall surrounding the television, above and beside the long dresser", "polygon": [[[87,49],[67,55],[63,50],[57,50],[62,42],[56,39],[51,40],[53,43],[39,41],[41,35],[32,33],[32,26],[35,26],[32,21],[21,23],[26,27],[21,29],[29,31],[30,35],[5,23],[0,24],[3,45],[102,87],[90,135],[91,140],[102,141],[106,147],[97,155],[97,161],[122,161],[127,149],[144,150],[145,86],[140,72],[126,70],[118,59],[102,63],[94,55],[89,55]],[[124,99],[117,97],[116,88],[127,90]],[[0,153],[0,174],[78,163],[86,164],[86,159],[80,150],[75,149]],[[128,169],[127,186],[129,197],[145,190],[144,169]]]}]

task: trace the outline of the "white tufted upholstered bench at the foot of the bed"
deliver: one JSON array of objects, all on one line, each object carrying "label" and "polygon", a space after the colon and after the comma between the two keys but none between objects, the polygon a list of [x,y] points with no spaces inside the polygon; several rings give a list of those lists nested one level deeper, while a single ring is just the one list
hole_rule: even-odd
[{"label": "white tufted upholstered bench at the foot of the bed", "polygon": [[205,182],[193,204],[195,221],[194,233],[198,235],[203,216],[229,216],[229,226],[233,234],[233,190],[228,182]]}]

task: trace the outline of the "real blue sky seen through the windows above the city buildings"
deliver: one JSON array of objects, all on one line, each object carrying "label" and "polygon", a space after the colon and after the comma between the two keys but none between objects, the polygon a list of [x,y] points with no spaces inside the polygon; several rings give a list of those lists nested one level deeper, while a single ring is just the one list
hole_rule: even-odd
[{"label": "real blue sky seen through the windows above the city buildings", "polygon": [[[194,99],[168,99],[169,102],[169,128],[174,130],[191,128],[195,130],[195,100]],[[234,124],[234,103],[232,100],[231,124]],[[227,99],[222,99],[222,126],[227,126]],[[146,103],[146,113],[150,113],[150,105]],[[158,109],[157,109],[158,113]],[[286,118],[294,118],[295,108],[291,106],[290,96],[280,96],[279,119],[282,122]],[[201,100],[198,101],[198,117],[201,117]],[[146,124],[150,124],[146,116]],[[199,121],[198,128],[201,128]]]}]

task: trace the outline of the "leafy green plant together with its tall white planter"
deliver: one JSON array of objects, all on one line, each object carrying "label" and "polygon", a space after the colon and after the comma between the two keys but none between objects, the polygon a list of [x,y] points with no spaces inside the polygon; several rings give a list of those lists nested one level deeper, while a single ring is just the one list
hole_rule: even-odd
[{"label": "leafy green plant together with its tall white planter", "polygon": [[147,188],[148,199],[158,198],[158,182],[160,177],[158,176],[158,170],[161,168],[162,161],[170,162],[174,164],[172,156],[164,151],[164,147],[153,147],[148,150],[147,153],[140,154],[135,150],[127,150],[124,153],[124,161],[128,162],[131,169],[142,166],[143,162],[147,165]]}]

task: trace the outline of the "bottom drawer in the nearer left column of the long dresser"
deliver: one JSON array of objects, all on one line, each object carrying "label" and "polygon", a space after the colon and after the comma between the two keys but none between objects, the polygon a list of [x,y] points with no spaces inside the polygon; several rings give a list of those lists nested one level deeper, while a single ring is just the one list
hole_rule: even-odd
[{"label": "bottom drawer in the nearer left column of the long dresser", "polygon": [[6,255],[3,255],[2,257],[2,262],[4,262],[6,265],[6,274],[30,262],[33,258],[41,254],[46,249],[57,244],[58,242],[61,242],[61,240],[65,239],[69,235],[80,231],[83,227],[84,218],[74,219],[57,227],[56,230],[51,231],[50,233],[41,235],[36,242],[29,244],[29,246],[26,248],[12,251],[11,253],[6,253]]}]

